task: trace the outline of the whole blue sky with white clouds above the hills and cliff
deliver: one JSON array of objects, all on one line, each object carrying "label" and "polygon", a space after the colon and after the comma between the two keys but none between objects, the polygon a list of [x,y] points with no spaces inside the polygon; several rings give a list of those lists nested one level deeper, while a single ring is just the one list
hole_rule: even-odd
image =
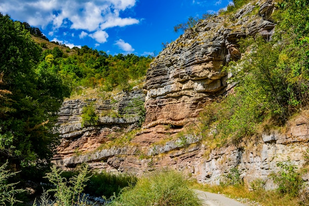
[{"label": "whole blue sky with white clouds above the hills and cliff", "polygon": [[49,41],[87,45],[108,54],[157,55],[181,34],[190,16],[225,8],[231,0],[0,0],[0,13],[38,27]]}]

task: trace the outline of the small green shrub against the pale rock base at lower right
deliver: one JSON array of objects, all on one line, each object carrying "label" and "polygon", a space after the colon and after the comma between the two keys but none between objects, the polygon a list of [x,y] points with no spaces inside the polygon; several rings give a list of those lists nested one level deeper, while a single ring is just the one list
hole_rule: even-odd
[{"label": "small green shrub against the pale rock base at lower right", "polygon": [[270,174],[271,179],[278,185],[277,190],[281,194],[289,194],[292,197],[298,196],[300,190],[304,186],[304,180],[301,173],[297,171],[297,166],[287,163],[277,163],[281,169],[278,173]]}]

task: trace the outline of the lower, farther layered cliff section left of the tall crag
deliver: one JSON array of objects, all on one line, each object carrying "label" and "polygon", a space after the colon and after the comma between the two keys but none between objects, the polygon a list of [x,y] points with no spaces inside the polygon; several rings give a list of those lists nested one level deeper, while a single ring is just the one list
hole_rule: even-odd
[{"label": "lower, farther layered cliff section left of the tall crag", "polygon": [[[65,101],[59,112],[58,132],[62,143],[54,160],[71,157],[83,151],[92,151],[112,137],[137,127],[141,118],[139,106],[144,105],[141,90],[121,92],[107,100],[74,99]],[[91,104],[98,121],[82,126],[83,108]]]}]

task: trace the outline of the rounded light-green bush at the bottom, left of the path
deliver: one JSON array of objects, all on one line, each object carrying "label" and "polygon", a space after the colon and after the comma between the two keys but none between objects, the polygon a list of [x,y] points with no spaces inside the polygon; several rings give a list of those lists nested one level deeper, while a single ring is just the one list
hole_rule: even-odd
[{"label": "rounded light-green bush at the bottom, left of the path", "polygon": [[123,190],[111,206],[200,206],[184,176],[165,171],[141,178],[133,187]]}]

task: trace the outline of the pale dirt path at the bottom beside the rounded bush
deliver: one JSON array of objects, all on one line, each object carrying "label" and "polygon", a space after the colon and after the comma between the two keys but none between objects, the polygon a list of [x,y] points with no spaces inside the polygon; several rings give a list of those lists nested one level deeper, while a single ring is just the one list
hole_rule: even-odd
[{"label": "pale dirt path at the bottom beside the rounded bush", "polygon": [[197,197],[202,201],[202,206],[246,206],[223,195],[194,190]]}]

